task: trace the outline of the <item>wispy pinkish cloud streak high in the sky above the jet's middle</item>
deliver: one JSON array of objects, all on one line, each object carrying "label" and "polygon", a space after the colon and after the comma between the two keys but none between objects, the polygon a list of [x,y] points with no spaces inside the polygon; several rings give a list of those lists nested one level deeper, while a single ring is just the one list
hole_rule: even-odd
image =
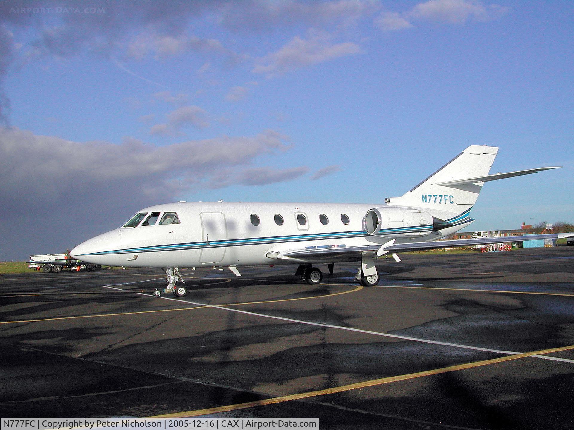
[{"label": "wispy pinkish cloud streak high in the sky above the jet's middle", "polygon": [[253,72],[265,73],[267,77],[272,77],[361,52],[359,46],[352,42],[333,44],[330,38],[327,33],[310,34],[307,39],[295,36],[277,52],[257,58]]}]

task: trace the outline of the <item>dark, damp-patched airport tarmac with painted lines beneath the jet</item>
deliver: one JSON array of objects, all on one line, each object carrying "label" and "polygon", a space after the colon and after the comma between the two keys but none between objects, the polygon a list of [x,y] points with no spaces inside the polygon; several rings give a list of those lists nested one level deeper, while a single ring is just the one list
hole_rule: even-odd
[{"label": "dark, damp-patched airport tarmac with painted lines beneath the jet", "polygon": [[0,275],[0,416],[573,427],[574,247],[401,258],[364,288],[185,271],[183,299],[157,269]]}]

